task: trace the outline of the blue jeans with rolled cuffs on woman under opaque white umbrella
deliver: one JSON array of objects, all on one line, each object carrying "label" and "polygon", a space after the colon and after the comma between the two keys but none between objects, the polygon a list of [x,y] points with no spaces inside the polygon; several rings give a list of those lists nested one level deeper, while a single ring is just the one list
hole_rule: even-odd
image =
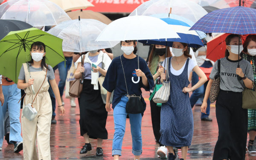
[{"label": "blue jeans with rolled cuffs on woman under opaque white umbrella", "polygon": [[[115,106],[113,111],[114,123],[115,123],[115,133],[112,145],[112,156],[122,155],[122,141],[125,135],[125,124],[126,124],[126,103],[128,102],[128,97],[123,96],[119,103]],[[132,153],[135,156],[142,154],[142,137],[141,137],[141,114],[129,114],[130,125],[131,125],[131,137],[132,137]]]}]

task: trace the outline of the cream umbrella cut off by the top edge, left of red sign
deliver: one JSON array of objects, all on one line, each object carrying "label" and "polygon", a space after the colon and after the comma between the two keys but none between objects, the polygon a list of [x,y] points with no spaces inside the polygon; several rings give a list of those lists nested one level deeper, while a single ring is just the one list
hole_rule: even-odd
[{"label": "cream umbrella cut off by the top edge, left of red sign", "polygon": [[75,9],[87,9],[88,7],[94,7],[88,0],[50,0],[53,3],[58,4],[65,12],[69,12]]}]

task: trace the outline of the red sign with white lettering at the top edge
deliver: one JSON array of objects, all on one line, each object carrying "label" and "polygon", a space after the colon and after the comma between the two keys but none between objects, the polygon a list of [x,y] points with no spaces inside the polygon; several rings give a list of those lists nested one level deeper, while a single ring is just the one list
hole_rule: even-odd
[{"label": "red sign with white lettering at the top edge", "polygon": [[95,12],[131,13],[148,0],[88,0],[94,7],[88,8]]}]

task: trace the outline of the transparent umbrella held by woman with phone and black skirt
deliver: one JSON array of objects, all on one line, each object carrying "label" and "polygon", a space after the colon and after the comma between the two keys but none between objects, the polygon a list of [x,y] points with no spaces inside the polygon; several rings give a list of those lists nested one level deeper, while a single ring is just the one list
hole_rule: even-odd
[{"label": "transparent umbrella held by woman with phone and black skirt", "polygon": [[[107,25],[99,20],[76,19],[58,24],[49,34],[63,39],[62,50],[66,52],[86,52],[114,47],[115,41],[95,41]],[[112,35],[113,36],[113,35]]]}]

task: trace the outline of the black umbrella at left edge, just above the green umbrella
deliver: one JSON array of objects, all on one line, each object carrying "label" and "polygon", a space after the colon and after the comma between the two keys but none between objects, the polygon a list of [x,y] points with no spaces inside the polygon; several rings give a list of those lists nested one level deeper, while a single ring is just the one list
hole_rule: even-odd
[{"label": "black umbrella at left edge, just above the green umbrella", "polygon": [[30,24],[20,20],[0,20],[0,40],[11,31],[20,31],[32,27]]}]

